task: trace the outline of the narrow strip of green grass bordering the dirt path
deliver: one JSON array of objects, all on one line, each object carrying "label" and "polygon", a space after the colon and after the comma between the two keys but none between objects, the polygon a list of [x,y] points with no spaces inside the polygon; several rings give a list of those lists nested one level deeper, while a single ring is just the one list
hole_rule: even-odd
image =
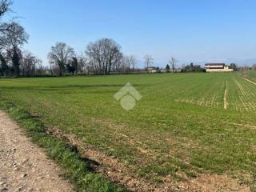
[{"label": "narrow strip of green grass bordering the dirt path", "polygon": [[58,163],[64,170],[65,178],[76,187],[78,191],[127,191],[117,186],[101,174],[95,173],[80,154],[65,141],[54,138],[46,132],[42,122],[22,110],[13,103],[1,100],[0,109],[5,110],[18,124],[26,130],[32,142],[46,150],[46,154]]}]

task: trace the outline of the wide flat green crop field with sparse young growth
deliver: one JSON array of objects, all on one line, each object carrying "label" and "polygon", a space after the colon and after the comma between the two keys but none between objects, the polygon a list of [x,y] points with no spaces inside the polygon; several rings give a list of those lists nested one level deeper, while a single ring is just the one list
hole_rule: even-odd
[{"label": "wide flat green crop field with sparse young growth", "polygon": [[[114,99],[127,82],[142,94],[130,111]],[[14,78],[1,79],[0,91],[47,127],[118,161],[123,174],[159,187],[227,174],[256,190],[256,85],[241,74]]]}]

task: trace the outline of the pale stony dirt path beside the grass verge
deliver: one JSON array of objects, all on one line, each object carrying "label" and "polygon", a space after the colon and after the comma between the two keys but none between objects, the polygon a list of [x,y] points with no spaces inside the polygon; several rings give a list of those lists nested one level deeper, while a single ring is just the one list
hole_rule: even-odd
[{"label": "pale stony dirt path beside the grass verge", "polygon": [[0,110],[0,192],[73,191],[62,171]]}]

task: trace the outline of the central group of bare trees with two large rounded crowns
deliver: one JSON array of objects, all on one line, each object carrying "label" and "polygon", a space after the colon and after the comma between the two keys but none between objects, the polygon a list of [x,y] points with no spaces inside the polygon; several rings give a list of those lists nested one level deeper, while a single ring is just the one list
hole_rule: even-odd
[{"label": "central group of bare trees with two large rounded crowns", "polygon": [[48,54],[52,74],[114,74],[135,70],[136,58],[122,54],[121,46],[113,39],[90,42],[84,54],[75,54],[64,42],[57,42]]}]

